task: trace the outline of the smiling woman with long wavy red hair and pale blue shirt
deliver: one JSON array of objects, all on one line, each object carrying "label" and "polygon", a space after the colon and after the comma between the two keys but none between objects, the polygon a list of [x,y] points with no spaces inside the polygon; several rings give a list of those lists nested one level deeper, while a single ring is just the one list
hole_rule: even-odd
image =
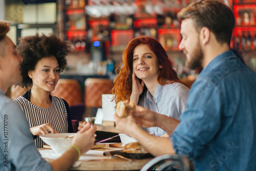
[{"label": "smiling woman with long wavy red hair and pale blue shirt", "polygon": [[[189,89],[182,83],[161,44],[140,36],[129,42],[116,69],[113,94],[117,102],[128,100],[154,112],[179,120],[186,108]],[[159,127],[145,128],[156,136]]]}]

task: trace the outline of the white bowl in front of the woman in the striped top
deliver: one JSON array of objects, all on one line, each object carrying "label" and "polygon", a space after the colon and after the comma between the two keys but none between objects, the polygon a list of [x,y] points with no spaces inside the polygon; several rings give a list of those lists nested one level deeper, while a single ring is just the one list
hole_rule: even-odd
[{"label": "white bowl in front of the woman in the striped top", "polygon": [[76,135],[76,133],[46,134],[41,135],[40,138],[50,145],[54,152],[62,155],[72,145],[73,138],[65,138],[70,135]]}]

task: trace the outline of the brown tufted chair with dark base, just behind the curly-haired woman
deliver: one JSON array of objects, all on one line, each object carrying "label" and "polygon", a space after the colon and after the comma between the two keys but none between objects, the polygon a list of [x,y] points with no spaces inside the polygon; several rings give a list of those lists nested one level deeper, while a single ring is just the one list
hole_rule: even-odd
[{"label": "brown tufted chair with dark base, just behind the curly-haired woman", "polygon": [[82,115],[85,107],[81,98],[81,88],[77,80],[59,79],[51,95],[60,97],[68,102],[72,119],[83,120]]}]

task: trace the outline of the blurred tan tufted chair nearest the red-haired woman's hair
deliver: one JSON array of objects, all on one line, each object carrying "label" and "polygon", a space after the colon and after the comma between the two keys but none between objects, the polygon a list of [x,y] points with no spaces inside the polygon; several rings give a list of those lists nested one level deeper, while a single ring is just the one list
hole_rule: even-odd
[{"label": "blurred tan tufted chair nearest the red-haired woman's hair", "polygon": [[96,116],[97,109],[102,106],[101,95],[112,94],[113,81],[104,78],[88,78],[84,82],[84,86],[84,104],[87,108],[87,116]]}]

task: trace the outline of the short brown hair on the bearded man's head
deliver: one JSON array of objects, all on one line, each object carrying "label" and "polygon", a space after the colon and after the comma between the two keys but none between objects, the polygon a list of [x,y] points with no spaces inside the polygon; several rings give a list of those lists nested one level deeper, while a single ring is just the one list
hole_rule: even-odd
[{"label": "short brown hair on the bearded man's head", "polygon": [[229,7],[217,0],[192,3],[178,13],[180,21],[191,18],[198,32],[207,27],[221,44],[230,44],[234,28],[234,15]]}]

